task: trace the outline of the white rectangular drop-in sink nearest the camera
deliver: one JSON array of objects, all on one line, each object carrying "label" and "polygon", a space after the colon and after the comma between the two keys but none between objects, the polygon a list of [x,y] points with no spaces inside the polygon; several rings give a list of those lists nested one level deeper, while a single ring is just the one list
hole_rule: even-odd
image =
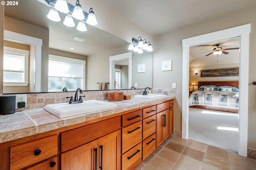
[{"label": "white rectangular drop-in sink nearest the camera", "polygon": [[114,103],[104,102],[100,100],[86,100],[83,103],[77,103],[77,104],[68,104],[68,103],[48,104],[44,106],[43,109],[52,113],[58,118],[63,118],[63,117],[88,113],[92,111],[99,111],[102,109],[110,109],[113,107],[117,107],[117,105]]}]

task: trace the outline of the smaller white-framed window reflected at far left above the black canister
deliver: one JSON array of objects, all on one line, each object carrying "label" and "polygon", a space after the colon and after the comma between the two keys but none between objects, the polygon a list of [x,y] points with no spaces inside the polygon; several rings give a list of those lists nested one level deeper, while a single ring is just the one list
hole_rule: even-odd
[{"label": "smaller white-framed window reflected at far left above the black canister", "polygon": [[4,47],[4,86],[27,86],[29,51]]}]

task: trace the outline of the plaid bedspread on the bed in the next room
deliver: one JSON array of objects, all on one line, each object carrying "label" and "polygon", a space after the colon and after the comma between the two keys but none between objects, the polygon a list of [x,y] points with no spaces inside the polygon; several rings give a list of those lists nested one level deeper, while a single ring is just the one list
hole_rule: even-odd
[{"label": "plaid bedspread on the bed in the next room", "polygon": [[229,109],[238,109],[239,92],[220,92],[220,91],[194,91],[189,96],[189,106],[212,106]]}]

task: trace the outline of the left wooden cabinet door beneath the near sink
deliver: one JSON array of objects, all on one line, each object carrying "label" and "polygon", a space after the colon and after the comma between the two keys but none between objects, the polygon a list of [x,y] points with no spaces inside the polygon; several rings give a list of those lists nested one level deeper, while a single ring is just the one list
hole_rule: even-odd
[{"label": "left wooden cabinet door beneath the near sink", "polygon": [[96,170],[97,140],[61,154],[61,170]]}]

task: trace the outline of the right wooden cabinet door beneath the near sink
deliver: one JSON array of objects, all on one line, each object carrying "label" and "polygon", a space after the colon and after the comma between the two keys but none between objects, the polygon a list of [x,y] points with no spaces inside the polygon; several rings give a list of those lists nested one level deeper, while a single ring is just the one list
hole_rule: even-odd
[{"label": "right wooden cabinet door beneath the near sink", "polygon": [[98,170],[121,169],[121,132],[110,133],[98,139]]}]

